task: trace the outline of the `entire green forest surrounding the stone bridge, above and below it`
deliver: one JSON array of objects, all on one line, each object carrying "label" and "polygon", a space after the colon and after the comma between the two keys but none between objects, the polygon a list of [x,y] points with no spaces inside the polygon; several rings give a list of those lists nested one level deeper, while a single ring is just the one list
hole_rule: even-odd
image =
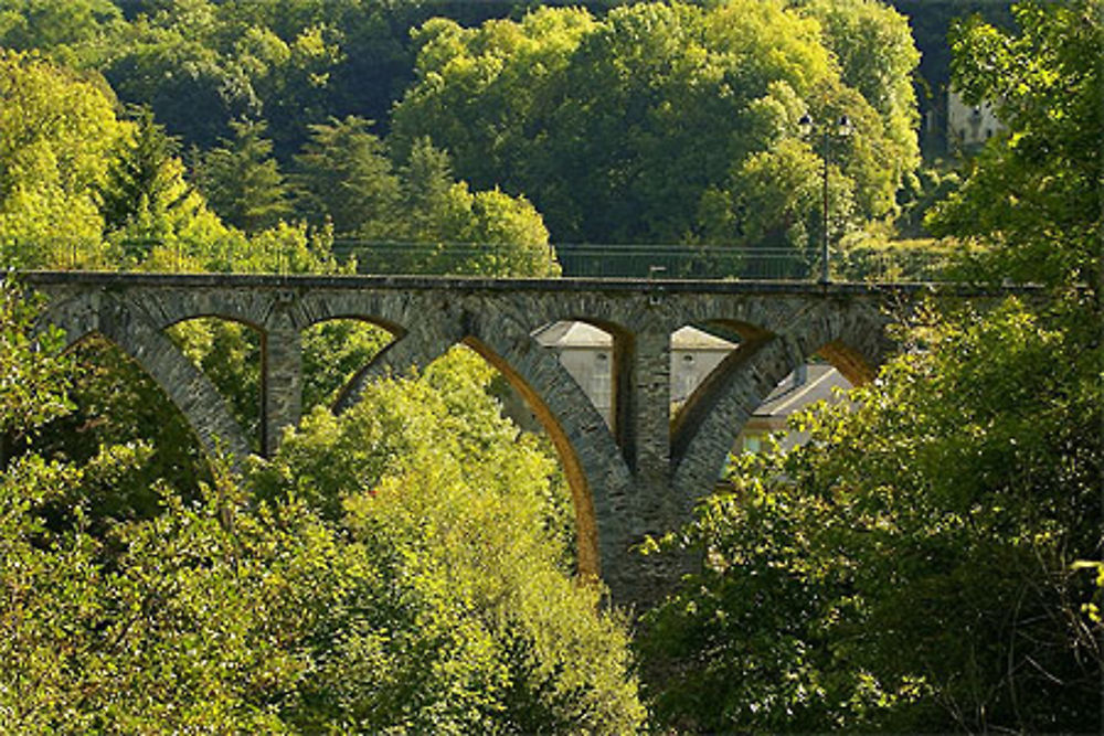
[{"label": "entire green forest surrounding the stone bridge, above and below it", "polygon": [[[1100,733],[1102,42],[1101,0],[0,0],[0,732]],[[952,87],[977,150],[922,130]],[[305,418],[240,465],[18,275],[733,278],[825,237],[1030,291],[933,287],[633,551],[698,561],[646,610],[577,578],[474,352],[336,415],[390,338],[312,328]],[[257,334],[168,332],[256,428]]]}]

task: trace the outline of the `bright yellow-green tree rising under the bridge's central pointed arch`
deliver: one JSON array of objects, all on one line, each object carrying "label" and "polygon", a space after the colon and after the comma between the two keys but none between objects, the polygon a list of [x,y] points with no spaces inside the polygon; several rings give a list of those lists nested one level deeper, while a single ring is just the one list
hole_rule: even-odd
[{"label": "bright yellow-green tree rising under the bridge's central pointed arch", "polygon": [[378,566],[332,611],[332,651],[295,716],[307,730],[638,724],[625,633],[544,533],[552,461],[499,416],[478,361],[373,384],[340,418],[316,409],[252,476],[261,498],[342,519]]}]

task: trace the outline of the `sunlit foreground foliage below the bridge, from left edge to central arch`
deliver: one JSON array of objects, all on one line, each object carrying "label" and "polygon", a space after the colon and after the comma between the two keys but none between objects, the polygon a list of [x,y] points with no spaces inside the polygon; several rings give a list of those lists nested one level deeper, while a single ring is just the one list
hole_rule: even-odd
[{"label": "sunlit foreground foliage below the bridge, from left edge to central arch", "polygon": [[31,349],[34,312],[4,295],[0,363],[28,380],[0,392],[20,438],[0,474],[0,729],[639,726],[624,625],[545,531],[553,462],[501,419],[479,359],[373,387],[340,420],[317,410],[250,480],[262,498],[216,462],[127,508],[148,448],[29,444],[68,410],[70,362]]}]

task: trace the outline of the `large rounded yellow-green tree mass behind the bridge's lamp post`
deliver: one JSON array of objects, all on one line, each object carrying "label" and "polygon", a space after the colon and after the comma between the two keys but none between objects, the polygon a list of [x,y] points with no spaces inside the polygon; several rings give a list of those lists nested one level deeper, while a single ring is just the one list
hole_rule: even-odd
[{"label": "large rounded yellow-green tree mass behind the bridge's lamp post", "polygon": [[[794,227],[819,228],[817,200],[793,193],[796,181],[814,184],[805,174],[817,163],[799,150],[797,119],[847,113],[857,135],[832,156],[857,207],[845,194],[835,214],[880,217],[916,162],[916,54],[900,15],[853,4],[861,19],[824,34],[819,6],[781,2],[639,3],[603,19],[542,8],[478,29],[435,20],[417,34],[396,146],[432,137],[473,185],[531,196],[561,241],[777,244],[802,239]],[[822,41],[850,54],[843,77]],[[882,53],[867,68],[862,54]],[[785,167],[758,199],[744,196],[753,157]],[[781,205],[787,198],[799,206]]]}]

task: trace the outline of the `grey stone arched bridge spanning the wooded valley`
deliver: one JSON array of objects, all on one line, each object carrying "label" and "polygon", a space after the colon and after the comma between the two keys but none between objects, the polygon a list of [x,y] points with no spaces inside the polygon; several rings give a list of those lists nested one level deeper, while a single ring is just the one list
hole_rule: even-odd
[{"label": "grey stone arched bridge spanning the wooded valley", "polygon": [[[211,382],[166,337],[199,317],[236,320],[262,335],[262,438],[275,450],[299,419],[300,334],[355,319],[393,342],[344,387],[357,401],[374,376],[424,366],[465,344],[497,367],[548,430],[573,494],[578,566],[615,600],[646,600],[679,572],[631,552],[645,535],[677,527],[709,492],[733,440],[767,393],[818,354],[853,383],[873,375],[893,345],[884,326],[920,285],[445,277],[237,276],[32,273],[50,298],[47,319],[70,343],[98,333],[137,361],[209,450],[238,456],[250,442]],[[533,338],[559,320],[590,322],[613,338],[613,427],[555,356]],[[737,335],[739,346],[673,417],[670,335],[686,324]],[[666,565],[666,567],[665,567]]]}]

